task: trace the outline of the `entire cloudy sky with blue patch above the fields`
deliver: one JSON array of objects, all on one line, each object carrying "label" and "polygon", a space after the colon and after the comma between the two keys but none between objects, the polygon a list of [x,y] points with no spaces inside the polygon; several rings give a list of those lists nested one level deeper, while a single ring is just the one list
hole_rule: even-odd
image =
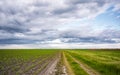
[{"label": "entire cloudy sky with blue patch above the fields", "polygon": [[120,48],[120,0],[0,0],[0,48]]}]

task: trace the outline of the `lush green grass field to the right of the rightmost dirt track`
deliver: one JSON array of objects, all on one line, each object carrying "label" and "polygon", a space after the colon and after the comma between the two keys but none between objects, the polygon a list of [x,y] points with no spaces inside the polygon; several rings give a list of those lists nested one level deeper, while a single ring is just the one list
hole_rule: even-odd
[{"label": "lush green grass field to the right of the rightmost dirt track", "polygon": [[67,52],[101,75],[120,75],[120,51],[73,50]]}]

